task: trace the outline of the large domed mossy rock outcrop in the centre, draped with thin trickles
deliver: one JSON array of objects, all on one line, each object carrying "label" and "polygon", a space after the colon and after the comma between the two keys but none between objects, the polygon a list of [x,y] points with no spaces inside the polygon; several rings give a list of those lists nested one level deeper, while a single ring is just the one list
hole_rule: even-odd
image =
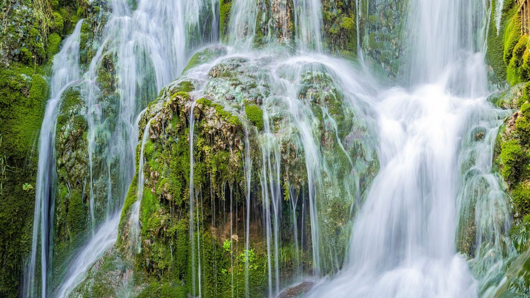
[{"label": "large domed mossy rock outcrop in the centre, draped with thin trickles", "polygon": [[[311,247],[311,228],[306,209],[304,145],[291,122],[294,111],[286,109],[280,97],[273,96],[279,92],[276,84],[280,82],[270,78],[270,63],[285,57],[271,53],[257,60],[217,58],[223,55],[225,52],[218,48],[201,51],[197,59],[216,61],[204,77],[185,71],[149,104],[140,120],[139,140],[145,143],[138,146],[137,165],[142,159],[144,183],[137,172],[122,210],[117,242],[123,255],[136,256],[130,259],[134,265],[129,267],[135,268],[134,274],[140,270],[147,273],[149,283],[156,281],[154,286],[135,282],[135,287],[143,288],[140,296],[157,296],[163,288],[197,293],[199,267],[205,296],[223,296],[231,293],[232,287],[237,293],[245,293],[247,260],[250,296],[263,295],[269,288],[269,268],[271,283],[278,278],[279,286],[287,285],[293,273],[312,269],[312,251],[307,249]],[[194,64],[194,59],[190,63]],[[333,165],[319,169],[322,173],[317,175],[322,178],[313,182],[318,185],[315,195],[319,197],[323,251],[320,266],[330,273],[340,268],[344,258],[351,200],[355,200],[351,194],[358,191],[362,196],[377,171],[377,161],[368,143],[361,141],[366,133],[361,131],[365,129],[362,121],[356,120],[334,78],[321,69],[294,77],[286,73],[286,79],[298,86],[298,98],[291,100],[305,103],[311,111],[304,113],[315,117],[315,127],[308,129],[316,133],[315,145],[323,150],[322,162]],[[200,92],[195,90],[196,85],[201,86]],[[279,155],[279,167],[275,154]],[[349,156],[356,160],[354,169]],[[250,181],[245,172],[248,164]],[[279,180],[274,171],[270,172],[276,167]],[[356,178],[360,182],[355,182]],[[342,183],[358,185],[359,189],[342,187]],[[135,240],[133,216],[138,201],[140,232]],[[245,235],[246,210],[251,210],[249,239]],[[273,216],[279,217],[277,223]],[[276,233],[277,244],[273,236]],[[140,243],[138,252],[131,251],[130,243],[135,241]]]}]

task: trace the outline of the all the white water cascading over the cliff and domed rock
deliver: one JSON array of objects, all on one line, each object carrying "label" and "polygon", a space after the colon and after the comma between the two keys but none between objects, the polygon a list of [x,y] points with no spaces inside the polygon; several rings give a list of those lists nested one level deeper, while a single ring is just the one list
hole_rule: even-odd
[{"label": "all the white water cascading over the cliff and domed rock", "polygon": [[[135,10],[125,0],[111,3],[109,20],[99,37],[100,46],[84,75],[78,66],[83,21],[54,58],[51,99],[40,136],[25,297],[68,296],[86,277],[91,265],[114,245],[120,211],[135,173],[138,125],[145,107],[164,86],[180,76],[195,49],[219,39],[216,0],[139,0]],[[356,9],[362,8],[363,3],[356,1]],[[286,52],[275,42],[253,48],[262,5],[254,0],[233,0],[226,53],[183,75],[196,82],[197,92],[212,93],[225,109],[234,111],[245,127],[245,295],[249,296],[252,287],[249,229],[254,212],[254,175],[260,187],[269,297],[278,295],[286,286],[280,280],[285,269],[279,252],[285,189],[295,227],[297,264],[293,267],[300,278],[304,277],[300,251],[305,243],[311,247],[310,275],[317,285],[308,296],[476,297],[491,293],[481,281],[488,278],[484,271],[490,269],[483,264],[481,255],[467,262],[455,248],[460,223],[469,210],[474,211],[478,223],[476,247],[490,243],[492,254],[502,242],[500,231],[509,225],[510,207],[500,178],[492,173],[491,162],[498,127],[507,116],[507,112],[494,109],[487,101],[484,34],[491,7],[481,1],[409,0],[407,30],[411,33],[405,34],[408,62],[402,66],[405,70],[399,80],[407,84],[399,85],[388,84],[370,73],[360,49],[360,66],[323,53],[319,0],[293,1],[293,51]],[[502,1],[496,5],[499,16]],[[497,31],[498,23],[496,20]],[[356,26],[360,48],[359,32],[364,30],[360,30],[358,20]],[[105,118],[100,103],[102,91],[95,84],[98,67],[108,57],[116,63],[119,90],[118,113],[112,120]],[[228,91],[228,83],[209,80],[209,70],[226,61],[237,61],[245,74],[260,78],[261,86],[267,86],[270,94],[261,102],[261,132],[245,119],[244,109],[236,109],[236,105],[245,104],[242,93],[234,92],[231,95],[235,99],[228,101],[226,93],[232,92]],[[54,246],[55,126],[61,95],[78,83],[83,86],[89,123],[91,231],[68,264],[68,277],[57,288],[49,288],[50,251]],[[307,87],[310,83],[311,87]],[[312,109],[308,102],[322,94],[340,98],[341,105],[325,101],[319,103],[320,109]],[[193,247],[192,294],[201,297],[201,270],[209,268],[201,266],[202,189],[196,189],[193,174],[193,111],[197,99],[187,115],[191,152],[189,234]],[[336,140],[334,151],[323,145],[321,122]],[[129,237],[132,235],[133,241],[130,246],[135,250],[141,249],[138,217],[150,125],[148,120],[140,146],[138,200],[129,218]],[[258,140],[257,164],[251,161],[251,136]],[[304,186],[298,189],[285,185],[280,175],[284,167],[282,144],[286,141],[294,144],[298,167],[306,177]],[[379,167],[378,174],[365,191],[361,185],[369,180],[374,167]],[[230,249],[234,246],[233,195],[230,186]],[[340,223],[333,222],[330,211],[337,205],[347,206],[348,219]],[[302,210],[297,206],[302,206]],[[297,210],[302,215],[296,216]],[[342,227],[340,232],[335,229],[337,224]],[[305,233],[303,229],[310,231]],[[305,234],[309,241],[304,239]],[[496,261],[502,263],[501,259],[499,256]],[[233,258],[231,262],[233,267]],[[40,277],[36,276],[39,270]],[[233,281],[232,273],[232,295]]]}]

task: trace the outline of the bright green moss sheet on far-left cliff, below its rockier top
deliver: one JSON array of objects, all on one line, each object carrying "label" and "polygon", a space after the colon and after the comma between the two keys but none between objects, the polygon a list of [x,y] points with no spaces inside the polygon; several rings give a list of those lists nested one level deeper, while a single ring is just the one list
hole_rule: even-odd
[{"label": "bright green moss sheet on far-left cliff, below its rockier top", "polygon": [[[23,258],[31,248],[37,148],[46,80],[40,67],[0,68],[0,296],[16,296]],[[5,171],[7,169],[7,171]]]}]

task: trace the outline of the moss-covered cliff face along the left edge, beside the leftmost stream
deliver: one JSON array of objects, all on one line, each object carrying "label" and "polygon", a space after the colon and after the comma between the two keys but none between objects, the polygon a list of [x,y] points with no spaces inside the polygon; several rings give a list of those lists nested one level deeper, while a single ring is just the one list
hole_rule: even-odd
[{"label": "moss-covered cliff face along the left edge, beside the leftmost stream", "polygon": [[99,13],[99,7],[86,1],[10,0],[1,8],[0,295],[14,297],[31,249],[38,138],[51,61],[76,22]]}]

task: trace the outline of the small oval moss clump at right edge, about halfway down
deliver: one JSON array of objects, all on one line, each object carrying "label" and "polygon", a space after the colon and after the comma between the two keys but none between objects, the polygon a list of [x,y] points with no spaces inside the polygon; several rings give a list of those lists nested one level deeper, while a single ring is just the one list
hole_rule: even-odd
[{"label": "small oval moss clump at right edge, about halfway down", "polygon": [[501,143],[500,159],[502,177],[510,184],[515,183],[524,164],[524,153],[519,143],[516,140]]}]

